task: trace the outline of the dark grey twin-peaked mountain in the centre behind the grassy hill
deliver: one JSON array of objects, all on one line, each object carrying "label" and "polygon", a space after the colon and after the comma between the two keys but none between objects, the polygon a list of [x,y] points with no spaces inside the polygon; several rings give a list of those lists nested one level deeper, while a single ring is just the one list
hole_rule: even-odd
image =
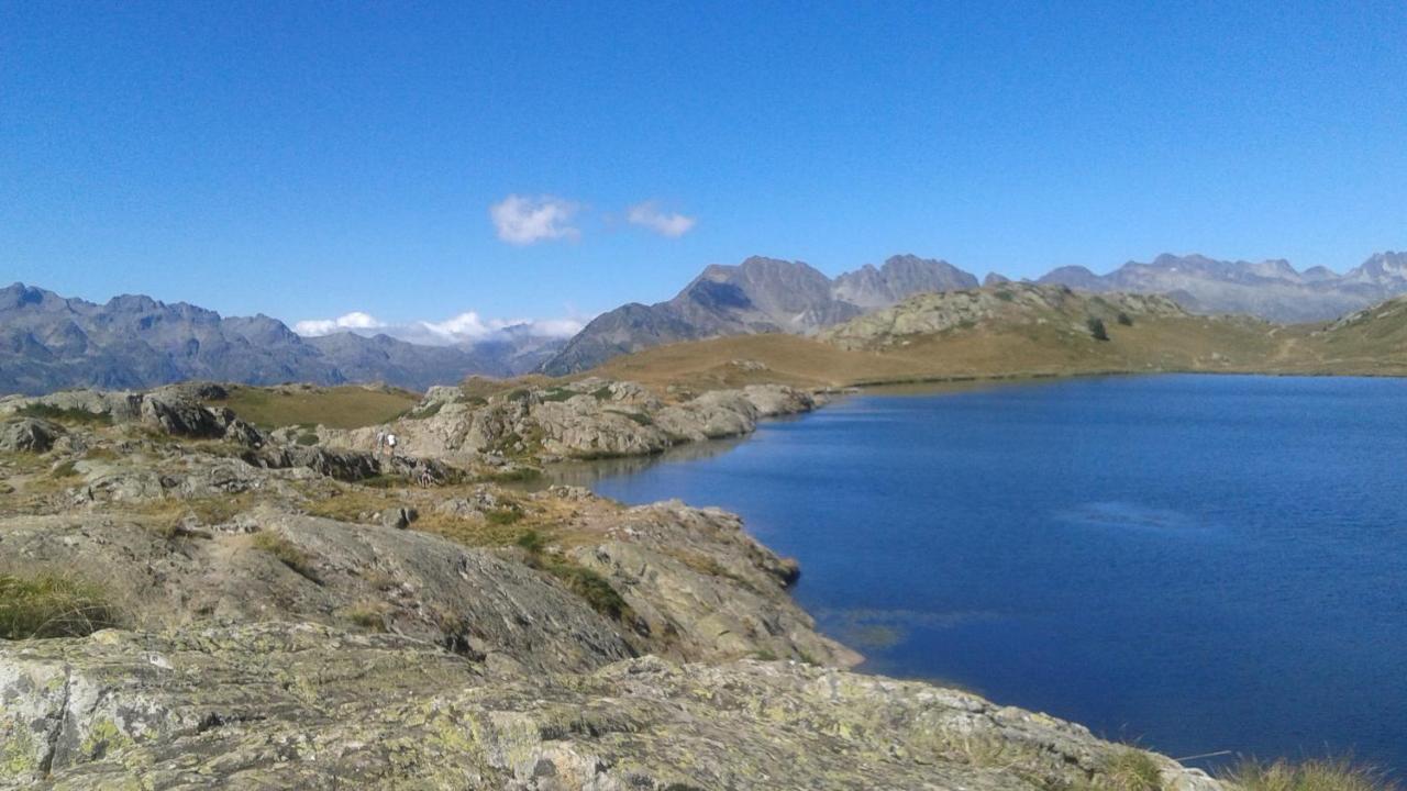
[{"label": "dark grey twin-peaked mountain in the centre behind the grassy hill", "polygon": [[630,303],[597,317],[545,372],[566,374],[649,346],[719,335],[810,334],[920,291],[975,289],[976,277],[944,260],[893,256],[832,280],[796,260],[754,256],[705,269],[673,300]]}]

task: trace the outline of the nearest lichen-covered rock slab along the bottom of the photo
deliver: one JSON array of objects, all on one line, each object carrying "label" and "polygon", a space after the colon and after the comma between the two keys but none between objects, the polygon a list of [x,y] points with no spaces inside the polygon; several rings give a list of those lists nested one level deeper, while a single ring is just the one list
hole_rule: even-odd
[{"label": "nearest lichen-covered rock slab along the bottom of the photo", "polygon": [[[1099,787],[1127,747],[919,683],[795,663],[490,678],[307,624],[0,645],[0,787]],[[1169,791],[1218,791],[1148,756]]]}]

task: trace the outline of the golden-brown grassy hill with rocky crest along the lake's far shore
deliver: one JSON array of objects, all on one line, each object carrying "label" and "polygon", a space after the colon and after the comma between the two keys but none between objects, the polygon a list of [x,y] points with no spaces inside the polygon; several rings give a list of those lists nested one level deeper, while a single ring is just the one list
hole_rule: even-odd
[{"label": "golden-brown grassy hill with rocky crest along the lake's far shore", "polygon": [[[1026,304],[1014,296],[1023,289],[1052,296]],[[965,304],[957,314],[947,294],[926,294],[847,322],[825,338],[744,335],[675,343],[618,357],[592,373],[654,387],[705,388],[761,381],[843,387],[1112,372],[1271,372],[1289,370],[1290,360],[1279,359],[1282,349],[1310,336],[1309,328],[1259,319],[1193,317],[1161,300],[1141,305],[1147,300],[1055,291],[974,290],[967,294],[1000,307],[983,312]],[[998,294],[1013,297],[1007,301]],[[1107,341],[1095,338],[1089,318],[1102,321]]]}]

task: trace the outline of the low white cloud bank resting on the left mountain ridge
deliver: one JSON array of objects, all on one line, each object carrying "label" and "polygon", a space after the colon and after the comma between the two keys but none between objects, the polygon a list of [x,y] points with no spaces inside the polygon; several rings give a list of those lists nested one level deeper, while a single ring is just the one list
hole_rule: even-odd
[{"label": "low white cloud bank resting on the left mountain ridge", "polygon": [[393,324],[370,314],[353,311],[338,318],[310,318],[293,325],[298,335],[317,338],[333,332],[355,332],[357,335],[390,335],[411,343],[429,346],[473,345],[514,335],[536,338],[570,338],[585,327],[587,318],[484,318],[477,311],[467,311],[445,321],[409,321]]}]

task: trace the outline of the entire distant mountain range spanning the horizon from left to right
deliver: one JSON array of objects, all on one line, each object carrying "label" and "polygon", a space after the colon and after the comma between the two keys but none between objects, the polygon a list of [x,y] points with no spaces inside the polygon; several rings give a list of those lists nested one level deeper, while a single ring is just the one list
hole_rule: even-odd
[{"label": "entire distant mountain range spanning the horizon from left to right", "polygon": [[[1007,281],[986,276],[986,284]],[[1407,293],[1407,252],[1382,252],[1345,274],[1300,272],[1285,260],[1161,255],[1107,274],[1064,266],[1037,279],[1093,293],[1162,294],[1195,314],[1247,314],[1276,322],[1330,321]],[[630,303],[570,341],[511,327],[473,345],[428,346],[388,335],[301,336],[266,315],[231,317],[186,303],[121,296],[106,304],[15,283],[0,289],[0,393],[63,387],[145,388],[184,379],[248,384],[384,381],[412,390],[469,374],[553,376],[595,367],[650,346],[705,338],[813,335],[913,294],[978,287],[946,260],[892,256],[827,277],[798,260],[754,256],[713,265],[674,298]]]}]

